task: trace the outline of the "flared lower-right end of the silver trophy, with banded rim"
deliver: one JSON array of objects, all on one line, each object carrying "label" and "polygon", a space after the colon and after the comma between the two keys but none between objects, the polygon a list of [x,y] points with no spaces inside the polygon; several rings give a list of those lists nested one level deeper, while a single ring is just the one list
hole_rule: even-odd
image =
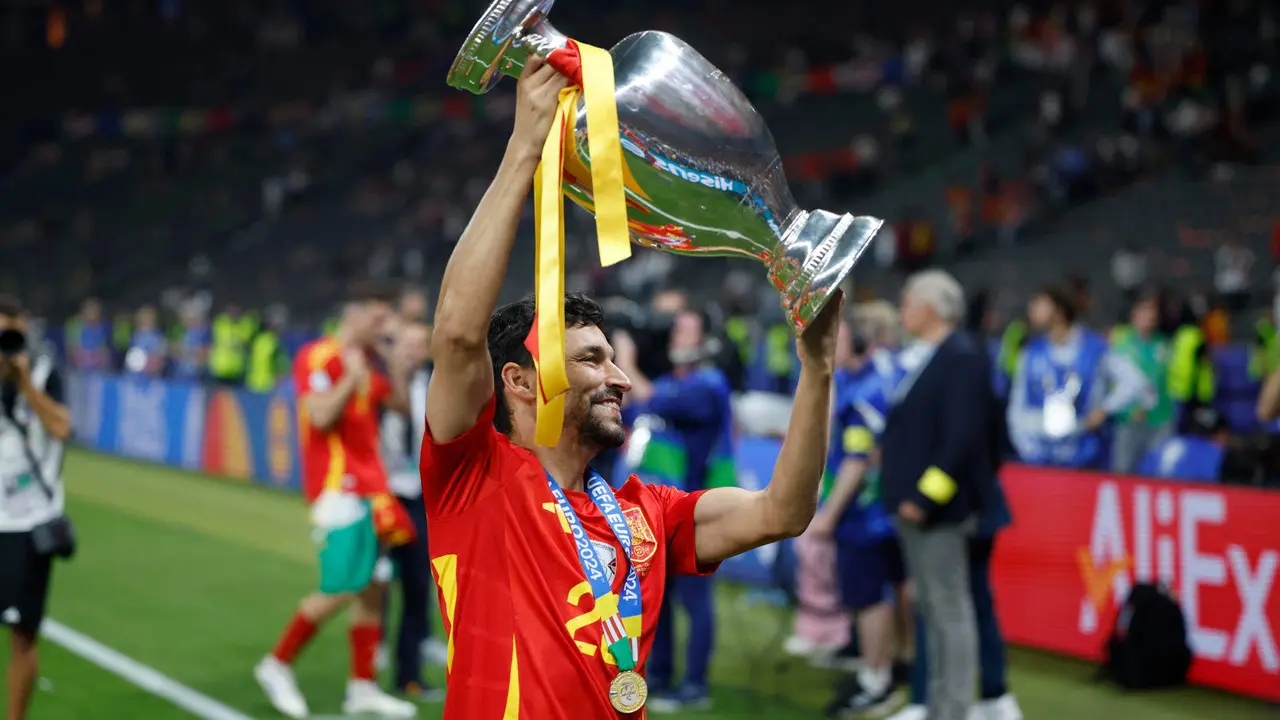
[{"label": "flared lower-right end of the silver trophy, with banded rim", "polygon": [[782,293],[796,334],[822,313],[883,225],[879,218],[826,210],[801,213],[791,223],[771,263],[769,281]]}]

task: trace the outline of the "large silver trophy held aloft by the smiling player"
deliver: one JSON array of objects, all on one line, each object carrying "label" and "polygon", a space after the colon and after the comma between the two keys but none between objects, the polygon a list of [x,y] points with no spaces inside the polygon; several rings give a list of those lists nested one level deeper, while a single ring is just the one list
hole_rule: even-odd
[{"label": "large silver trophy held aloft by the smiling player", "polygon": [[[530,53],[568,40],[547,20],[554,0],[494,0],[449,68],[451,86],[483,94],[518,76]],[[627,170],[631,240],[680,255],[755,258],[804,332],[884,220],[801,210],[773,135],[732,82],[685,41],[637,32],[609,50]],[[579,102],[564,193],[593,208],[586,111]]]}]

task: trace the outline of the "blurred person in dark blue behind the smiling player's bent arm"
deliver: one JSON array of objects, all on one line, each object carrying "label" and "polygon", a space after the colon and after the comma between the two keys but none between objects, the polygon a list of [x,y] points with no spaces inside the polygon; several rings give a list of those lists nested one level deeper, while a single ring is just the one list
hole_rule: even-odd
[{"label": "blurred person in dark blue behind the smiling player's bent arm", "polygon": [[[668,355],[672,372],[650,380],[640,370],[636,345],[625,333],[613,338],[614,363],[631,379],[627,402],[636,406],[627,456],[645,482],[684,491],[736,484],[732,406],[728,378],[709,364],[701,314],[675,316]],[[671,579],[648,660],[653,712],[710,706],[708,671],[716,635],[713,578]],[[689,615],[684,682],[675,678],[675,602]]]}]

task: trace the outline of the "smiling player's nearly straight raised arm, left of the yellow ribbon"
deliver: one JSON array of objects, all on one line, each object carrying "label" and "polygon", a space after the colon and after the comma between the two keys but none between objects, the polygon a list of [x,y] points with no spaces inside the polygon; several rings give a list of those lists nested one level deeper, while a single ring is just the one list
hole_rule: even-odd
[{"label": "smiling player's nearly straight raised arm, left of the yellow ribbon", "polygon": [[516,94],[516,127],[502,165],[462,233],[440,283],[431,333],[435,361],[426,393],[426,421],[435,442],[460,437],[493,396],[489,316],[507,278],[525,199],[556,115],[564,78],[531,55]]}]

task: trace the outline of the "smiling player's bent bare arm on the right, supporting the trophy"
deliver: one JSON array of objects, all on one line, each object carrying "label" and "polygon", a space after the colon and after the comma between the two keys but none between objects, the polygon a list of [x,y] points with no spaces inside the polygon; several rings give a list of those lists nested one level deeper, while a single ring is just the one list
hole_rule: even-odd
[{"label": "smiling player's bent bare arm on the right, supporting the trophy", "polygon": [[831,387],[844,297],[833,299],[800,337],[796,386],[782,452],[762,491],[714,488],[694,509],[699,564],[712,564],[799,536],[818,507],[818,484],[831,433]]}]

